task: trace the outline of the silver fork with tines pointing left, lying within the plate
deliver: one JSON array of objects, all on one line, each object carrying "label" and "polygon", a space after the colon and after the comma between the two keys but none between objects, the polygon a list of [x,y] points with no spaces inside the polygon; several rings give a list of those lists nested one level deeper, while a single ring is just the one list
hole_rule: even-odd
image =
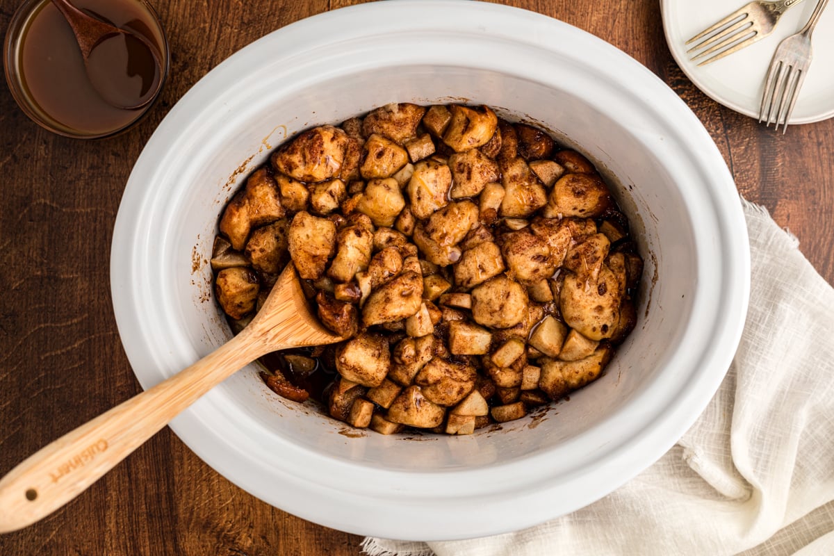
[{"label": "silver fork with tines pointing left, lying within the plate", "polygon": [[690,54],[693,62],[701,60],[699,66],[715,62],[773,33],[782,14],[801,2],[802,0],[754,0],[686,41],[686,44],[701,41],[686,53]]}]

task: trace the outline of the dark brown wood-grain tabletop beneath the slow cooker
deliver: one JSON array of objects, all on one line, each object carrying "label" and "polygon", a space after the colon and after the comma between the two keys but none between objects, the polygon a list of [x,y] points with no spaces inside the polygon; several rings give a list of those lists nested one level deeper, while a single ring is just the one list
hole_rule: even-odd
[{"label": "dark brown wood-grain tabletop beneath the slow cooker", "polygon": [[[0,29],[22,0],[0,0]],[[172,67],[148,117],[116,138],[43,131],[0,87],[0,475],[140,391],[118,338],[109,247],[133,163],[178,98],[255,39],[352,0],[150,0]],[[773,133],[707,98],[678,68],[656,0],[514,0],[604,38],[681,95],[739,191],[800,239],[834,283],[834,119]],[[0,554],[358,554],[361,538],[250,496],[164,428],[48,518],[0,535]]]}]

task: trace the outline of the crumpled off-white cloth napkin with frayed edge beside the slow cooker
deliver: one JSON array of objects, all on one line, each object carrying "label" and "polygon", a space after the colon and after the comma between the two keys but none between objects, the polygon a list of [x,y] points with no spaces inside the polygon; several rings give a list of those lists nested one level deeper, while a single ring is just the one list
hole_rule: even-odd
[{"label": "crumpled off-white cloth napkin with frayed edge beside the slow cooker", "polygon": [[834,288],[743,202],[751,299],[715,398],[657,463],[575,513],[517,533],[371,556],[834,554]]}]

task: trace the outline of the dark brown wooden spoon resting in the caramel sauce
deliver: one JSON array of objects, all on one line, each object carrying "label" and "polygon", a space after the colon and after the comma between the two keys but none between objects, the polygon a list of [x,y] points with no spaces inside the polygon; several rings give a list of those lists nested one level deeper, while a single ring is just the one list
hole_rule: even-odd
[{"label": "dark brown wooden spoon resting in the caramel sauce", "polygon": [[87,77],[101,98],[133,110],[156,96],[162,87],[162,62],[147,38],[93,18],[69,0],[52,3],[73,28]]}]

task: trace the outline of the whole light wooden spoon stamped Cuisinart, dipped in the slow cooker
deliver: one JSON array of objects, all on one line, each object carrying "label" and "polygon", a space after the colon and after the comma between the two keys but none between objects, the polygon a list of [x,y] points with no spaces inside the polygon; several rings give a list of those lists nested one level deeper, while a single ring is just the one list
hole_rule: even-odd
[{"label": "whole light wooden spoon stamped Cuisinart, dipped in the slow cooker", "polygon": [[228,343],[41,448],[0,480],[0,533],[26,527],[68,503],[246,364],[281,349],[342,339],[310,314],[288,264],[249,326]]}]

